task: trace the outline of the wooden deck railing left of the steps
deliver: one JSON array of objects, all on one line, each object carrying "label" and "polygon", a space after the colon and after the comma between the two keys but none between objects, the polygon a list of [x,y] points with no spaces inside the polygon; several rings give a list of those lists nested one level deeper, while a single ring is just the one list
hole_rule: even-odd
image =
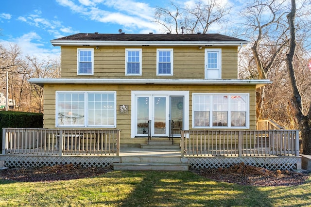
[{"label": "wooden deck railing left of the steps", "polygon": [[2,155],[119,156],[119,149],[119,129],[2,129]]}]

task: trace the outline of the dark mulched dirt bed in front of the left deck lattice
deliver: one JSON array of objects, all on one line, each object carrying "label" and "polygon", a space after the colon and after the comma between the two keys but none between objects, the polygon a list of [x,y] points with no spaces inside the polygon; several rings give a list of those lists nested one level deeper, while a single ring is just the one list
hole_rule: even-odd
[{"label": "dark mulched dirt bed in front of the left deck lattice", "polygon": [[105,168],[80,168],[67,165],[54,165],[40,168],[8,168],[0,170],[0,179],[15,180],[20,182],[39,182],[39,181],[56,181],[71,180],[84,177],[102,175],[111,171]]}]

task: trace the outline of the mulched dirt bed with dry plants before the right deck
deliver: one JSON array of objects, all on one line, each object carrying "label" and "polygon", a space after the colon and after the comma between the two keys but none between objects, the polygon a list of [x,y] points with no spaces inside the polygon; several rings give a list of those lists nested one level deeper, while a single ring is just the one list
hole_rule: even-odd
[{"label": "mulched dirt bed with dry plants before the right deck", "polygon": [[230,168],[192,169],[193,173],[212,180],[236,183],[249,186],[295,186],[303,184],[310,172],[298,173],[293,171],[269,171],[240,163]]}]

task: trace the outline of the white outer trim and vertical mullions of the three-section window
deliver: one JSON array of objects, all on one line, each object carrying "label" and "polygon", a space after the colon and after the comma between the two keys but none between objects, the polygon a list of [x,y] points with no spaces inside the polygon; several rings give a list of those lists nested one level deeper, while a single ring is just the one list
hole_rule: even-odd
[{"label": "white outer trim and vertical mullions of the three-section window", "polygon": [[[213,127],[212,126],[212,107],[213,107],[213,104],[212,104],[212,99],[210,98],[209,99],[209,105],[210,105],[210,114],[209,114],[209,127],[195,127],[194,126],[194,96],[196,95],[207,95],[207,96],[246,96],[246,120],[245,120],[245,127],[231,127],[231,114],[228,113],[228,126],[227,127]],[[250,119],[250,111],[249,111],[249,107],[250,107],[250,103],[249,103],[249,96],[250,94],[248,93],[192,93],[192,128],[210,128],[210,129],[249,129],[249,119]],[[230,100],[230,99],[228,99]],[[228,112],[231,111],[231,105],[228,104],[228,109],[227,109]]]}]

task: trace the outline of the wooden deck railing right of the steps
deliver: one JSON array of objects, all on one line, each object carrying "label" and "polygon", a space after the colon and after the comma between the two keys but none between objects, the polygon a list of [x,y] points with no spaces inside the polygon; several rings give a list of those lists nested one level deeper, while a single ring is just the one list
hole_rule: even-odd
[{"label": "wooden deck railing right of the steps", "polygon": [[298,130],[182,130],[182,155],[299,156]]}]

